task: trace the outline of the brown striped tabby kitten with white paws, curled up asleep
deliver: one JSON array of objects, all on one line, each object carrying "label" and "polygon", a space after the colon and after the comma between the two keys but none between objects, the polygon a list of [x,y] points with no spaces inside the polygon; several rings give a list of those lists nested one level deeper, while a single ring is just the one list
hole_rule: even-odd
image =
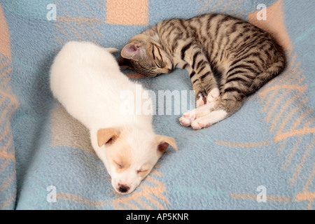
[{"label": "brown striped tabby kitten with white paws, curled up asleep", "polygon": [[[286,66],[281,46],[269,33],[221,14],[164,20],[134,36],[121,56],[120,66],[145,76],[186,69],[197,109],[183,114],[180,122],[195,130],[235,113],[244,97]],[[219,77],[218,83],[214,75]]]}]

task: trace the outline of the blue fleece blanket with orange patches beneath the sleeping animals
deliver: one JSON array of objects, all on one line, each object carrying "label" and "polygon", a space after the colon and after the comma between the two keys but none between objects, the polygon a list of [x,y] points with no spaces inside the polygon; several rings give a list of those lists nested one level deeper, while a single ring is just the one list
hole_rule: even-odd
[{"label": "blue fleece blanket with orange patches beneath the sleeping animals", "polygon": [[[0,209],[314,209],[314,10],[311,0],[1,0]],[[198,131],[179,123],[193,104],[187,71],[124,71],[155,92],[155,130],[179,151],[118,195],[88,131],[52,97],[52,60],[71,40],[121,49],[161,20],[209,12],[274,34],[288,66],[233,116]],[[173,98],[159,100],[166,91]]]}]

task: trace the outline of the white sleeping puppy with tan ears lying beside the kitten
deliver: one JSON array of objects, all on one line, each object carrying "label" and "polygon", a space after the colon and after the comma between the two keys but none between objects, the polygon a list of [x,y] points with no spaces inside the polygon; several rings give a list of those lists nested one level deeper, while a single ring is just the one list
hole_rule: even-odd
[{"label": "white sleeping puppy with tan ears lying beside the kitten", "polygon": [[[114,51],[88,42],[66,43],[50,69],[50,88],[90,130],[113,188],[125,194],[139,186],[169,145],[176,151],[177,146],[171,137],[154,133],[152,113],[139,113],[148,102],[136,104],[135,97],[147,92],[120,72]],[[128,105],[132,110],[126,113]]]}]

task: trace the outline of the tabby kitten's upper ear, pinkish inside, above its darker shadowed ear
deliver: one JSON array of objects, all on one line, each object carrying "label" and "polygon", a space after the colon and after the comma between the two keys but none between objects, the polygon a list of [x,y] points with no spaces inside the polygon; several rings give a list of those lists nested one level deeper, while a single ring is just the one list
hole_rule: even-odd
[{"label": "tabby kitten's upper ear, pinkish inside, above its darker shadowed ear", "polygon": [[133,42],[128,43],[123,47],[123,50],[120,52],[121,57],[127,58],[127,59],[133,59],[135,61],[139,61],[139,59],[142,59],[146,57],[146,49],[144,48],[144,45],[139,42]]}]

